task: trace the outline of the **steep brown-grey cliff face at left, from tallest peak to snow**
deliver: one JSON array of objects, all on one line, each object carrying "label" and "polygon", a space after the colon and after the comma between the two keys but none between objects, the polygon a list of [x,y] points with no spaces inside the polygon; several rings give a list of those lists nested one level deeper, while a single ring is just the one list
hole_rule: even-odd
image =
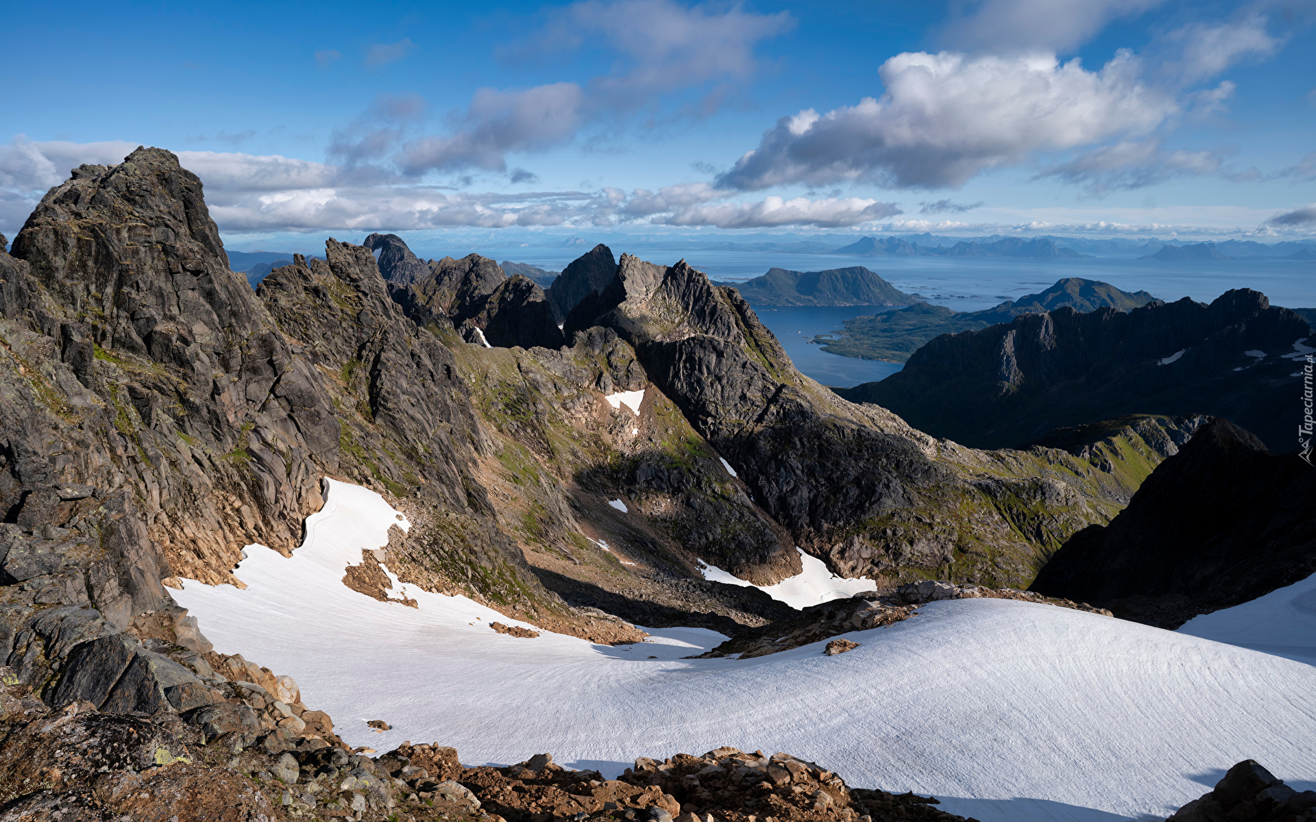
[{"label": "steep brown-grey cliff face at left, from tallest peak to snow", "polygon": [[49,481],[129,492],[180,576],[226,579],[258,534],[296,547],[338,423],[320,375],[229,271],[200,180],[158,149],[83,166],[13,259],[32,284],[14,339],[42,349],[38,400],[59,418],[34,446],[63,455]]}]

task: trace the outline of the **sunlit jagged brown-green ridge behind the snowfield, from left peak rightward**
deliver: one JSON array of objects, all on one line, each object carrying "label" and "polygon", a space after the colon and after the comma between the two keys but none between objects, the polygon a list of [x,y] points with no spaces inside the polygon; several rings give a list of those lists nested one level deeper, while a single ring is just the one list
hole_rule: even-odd
[{"label": "sunlit jagged brown-green ridge behind the snowfield, from left peak rightward", "polygon": [[[405,583],[599,642],[637,634],[572,606],[726,633],[779,618],[697,560],[767,584],[800,571],[796,543],[849,575],[1021,584],[1140,480],[845,402],[684,263],[624,255],[571,312],[604,305],[597,322],[557,349],[462,339],[454,318],[528,283],[476,255],[390,288],[368,249],[329,241],[253,293],[200,180],[158,149],[79,168],[13,249],[0,567],[22,587],[0,621],[38,693],[72,648],[172,608],[162,580],[240,584],[243,544],[293,550],[322,476],[407,512],[386,550]],[[640,389],[638,413],[604,400]]]}]

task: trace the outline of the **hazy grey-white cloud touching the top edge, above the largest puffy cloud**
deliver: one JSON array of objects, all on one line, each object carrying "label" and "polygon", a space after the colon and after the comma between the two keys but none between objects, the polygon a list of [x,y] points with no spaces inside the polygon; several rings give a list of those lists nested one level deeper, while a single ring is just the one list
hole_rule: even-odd
[{"label": "hazy grey-white cloud touching the top edge, above the largest puffy cloud", "polygon": [[1063,51],[1109,22],[1132,18],[1165,0],[983,0],[959,7],[946,26],[950,43],[992,51]]}]

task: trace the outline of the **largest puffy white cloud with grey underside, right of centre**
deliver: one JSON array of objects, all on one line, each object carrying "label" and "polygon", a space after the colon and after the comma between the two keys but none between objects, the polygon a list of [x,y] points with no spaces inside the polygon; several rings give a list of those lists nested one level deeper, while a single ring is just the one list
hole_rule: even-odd
[{"label": "largest puffy white cloud with grey underside, right of centre", "polygon": [[1140,71],[1128,51],[1100,71],[1050,54],[899,54],[878,70],[887,89],[880,99],[782,117],[717,183],[958,187],[1036,151],[1150,133],[1179,105],[1146,85]]}]

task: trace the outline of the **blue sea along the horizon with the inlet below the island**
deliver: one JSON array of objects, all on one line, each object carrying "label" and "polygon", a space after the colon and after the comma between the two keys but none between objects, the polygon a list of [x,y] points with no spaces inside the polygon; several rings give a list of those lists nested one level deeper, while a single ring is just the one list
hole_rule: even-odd
[{"label": "blue sea along the horizon with the inlet below the island", "polygon": [[[533,247],[476,250],[497,260],[530,263],[557,271],[586,251],[586,249]],[[463,254],[470,251],[467,249]],[[621,254],[625,249],[616,247],[613,251]],[[772,267],[822,271],[866,266],[905,293],[919,295],[928,302],[962,312],[991,308],[1004,300],[1038,292],[1063,278],[1101,280],[1124,291],[1149,291],[1166,301],[1192,297],[1209,302],[1230,288],[1252,288],[1270,297],[1273,305],[1316,306],[1316,263],[1284,259],[1161,262],[1096,256],[1033,260],[999,256],[851,256],[661,247],[636,251],[636,255],[669,266],[686,259],[709,278],[724,281],[744,281],[761,276]],[[805,342],[816,334],[840,330],[842,321],[850,317],[888,309],[755,306],[755,310],[763,324],[776,334],[795,366],[824,385],[858,385],[880,380],[900,370],[898,363],[826,354],[816,343]]]}]

